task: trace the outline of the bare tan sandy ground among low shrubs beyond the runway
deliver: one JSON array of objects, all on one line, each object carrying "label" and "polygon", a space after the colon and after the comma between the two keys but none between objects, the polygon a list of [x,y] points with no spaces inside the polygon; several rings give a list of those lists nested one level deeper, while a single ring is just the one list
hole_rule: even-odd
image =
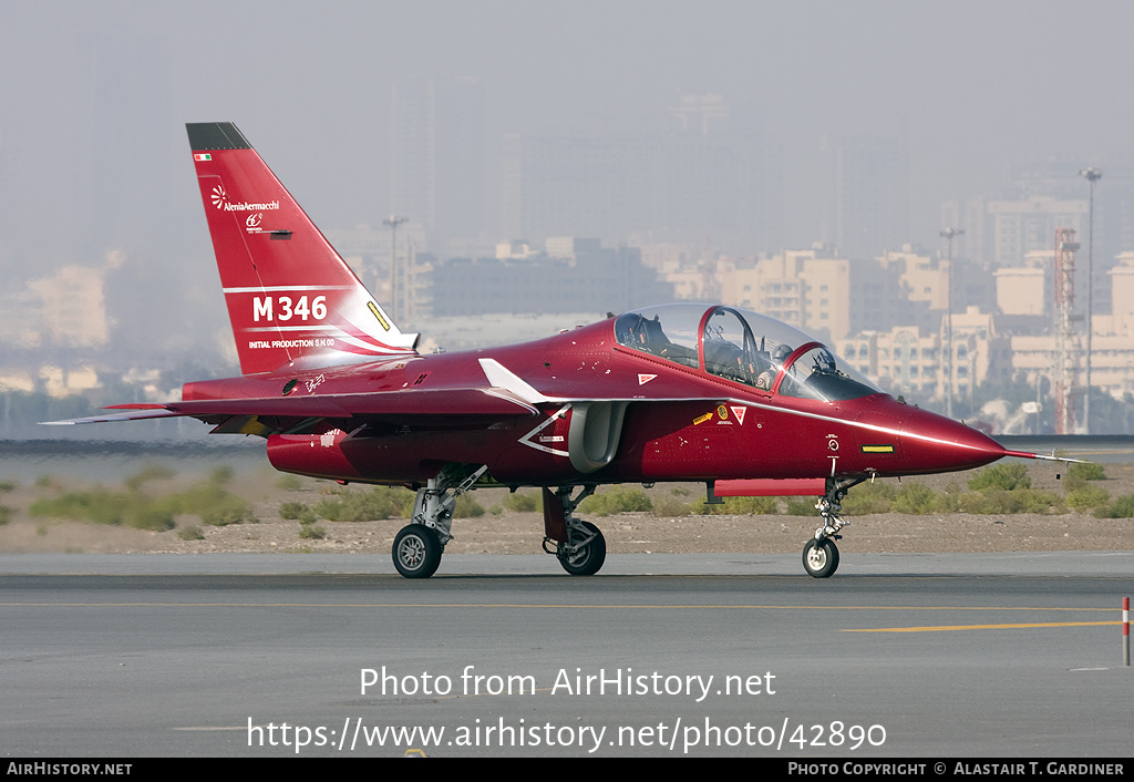
[{"label": "bare tan sandy ground among low shrubs beyond the runway", "polygon": [[[1063,491],[1056,473],[1063,465],[1030,465],[1034,488]],[[1134,493],[1134,464],[1107,464],[1108,479],[1097,482],[1111,497]],[[964,486],[971,476],[954,473],[919,479],[941,490],[953,482]],[[146,491],[178,490],[200,476],[178,476],[146,485]],[[907,479],[908,480],[908,479]],[[81,486],[6,485],[0,505],[8,508],[8,523],[0,524],[0,552],[60,553],[211,553],[211,552],[352,552],[389,556],[393,536],[405,520],[336,523],[320,521],[323,539],[299,537],[301,524],[285,521],[279,507],[285,502],[314,505],[325,498],[333,484],[302,479],[298,488],[280,488],[278,473],[266,468],[239,474],[229,487],[253,503],[255,523],[210,527],[193,515],[178,518],[178,528],[197,524],[201,540],[183,540],[177,530],[147,532],[62,519],[33,518],[28,512],[39,497],[83,488]],[[293,481],[294,484],[294,481]],[[674,487],[658,486],[649,496],[660,497]],[[703,487],[685,487],[697,496]],[[363,489],[359,489],[363,490]],[[480,518],[457,519],[451,553],[532,554],[543,539],[539,512],[502,510],[506,490],[481,489],[474,494],[490,512]],[[492,511],[496,512],[492,512]],[[802,550],[818,527],[818,514],[721,515],[660,518],[651,513],[587,516],[607,538],[610,553],[793,553]],[[853,552],[1042,552],[1114,550],[1134,547],[1128,519],[1095,519],[1082,513],[970,515],[965,513],[905,515],[898,513],[849,516],[839,547]]]}]

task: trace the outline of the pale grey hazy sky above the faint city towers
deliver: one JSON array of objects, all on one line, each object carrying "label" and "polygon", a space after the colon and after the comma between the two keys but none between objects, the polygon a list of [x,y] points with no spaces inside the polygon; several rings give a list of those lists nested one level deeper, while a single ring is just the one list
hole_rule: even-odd
[{"label": "pale grey hazy sky above the faint city towers", "polygon": [[797,245],[816,238],[821,138],[903,135],[911,238],[936,247],[941,201],[993,194],[1010,161],[1069,153],[1085,165],[1131,150],[1132,30],[1134,5],[1081,0],[0,0],[0,203],[23,210],[0,225],[27,246],[82,210],[76,201],[99,192],[75,163],[86,155],[121,155],[115,176],[127,183],[147,176],[129,165],[138,140],[88,127],[130,99],[102,85],[92,110],[85,93],[100,76],[82,52],[120,41],[132,79],[168,85],[149,119],[146,106],[121,112],[166,136],[143,145],[168,151],[168,187],[119,185],[98,209],[160,212],[194,252],[209,245],[185,121],[235,121],[324,229],[373,222],[389,199],[391,79],[415,75],[481,78],[490,143],[644,124],[679,90],[754,108],[786,149]]}]

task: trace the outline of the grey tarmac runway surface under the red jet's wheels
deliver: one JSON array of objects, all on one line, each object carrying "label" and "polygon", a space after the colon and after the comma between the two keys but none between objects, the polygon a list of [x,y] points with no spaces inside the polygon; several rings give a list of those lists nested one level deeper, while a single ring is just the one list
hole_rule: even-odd
[{"label": "grey tarmac runway surface under the red jet's wheels", "polygon": [[1124,757],[1132,562],[855,555],[820,581],[797,556],[641,555],[579,579],[466,555],[406,581],[373,557],[0,556],[0,737],[15,757]]}]

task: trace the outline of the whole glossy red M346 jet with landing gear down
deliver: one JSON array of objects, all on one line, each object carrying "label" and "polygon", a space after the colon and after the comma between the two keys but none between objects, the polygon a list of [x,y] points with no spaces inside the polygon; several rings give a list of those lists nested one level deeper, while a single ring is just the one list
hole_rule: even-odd
[{"label": "whole glossy red M346 jet with landing gear down", "polygon": [[578,504],[603,484],[658,481],[703,481],[709,502],[819,496],[803,564],[826,578],[850,487],[1036,457],[895,400],[806,334],[731,306],[666,304],[422,355],[235,125],[187,128],[243,375],[71,422],[188,415],[264,437],[285,472],[414,489],[392,552],[406,578],[433,574],[457,496],[485,486],[540,487],[544,550],[568,573],[596,573],[606,541]]}]

